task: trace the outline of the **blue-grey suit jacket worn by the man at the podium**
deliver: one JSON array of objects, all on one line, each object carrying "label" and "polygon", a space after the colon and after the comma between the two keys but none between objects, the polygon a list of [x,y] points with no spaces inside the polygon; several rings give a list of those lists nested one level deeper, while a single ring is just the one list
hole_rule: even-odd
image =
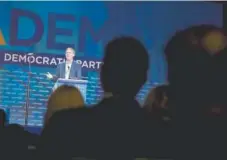
[{"label": "blue-grey suit jacket worn by the man at the podium", "polygon": [[[58,64],[54,80],[57,80],[58,78],[65,78],[65,65],[65,62]],[[81,78],[81,66],[76,63],[76,61],[72,62],[69,78]]]}]

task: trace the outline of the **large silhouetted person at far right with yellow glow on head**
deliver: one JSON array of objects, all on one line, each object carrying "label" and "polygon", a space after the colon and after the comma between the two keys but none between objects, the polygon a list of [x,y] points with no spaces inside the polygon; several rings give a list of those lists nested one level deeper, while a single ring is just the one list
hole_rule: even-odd
[{"label": "large silhouetted person at far right with yellow glow on head", "polygon": [[174,158],[225,159],[226,117],[211,113],[227,104],[226,34],[212,25],[190,27],[170,39],[165,53]]}]

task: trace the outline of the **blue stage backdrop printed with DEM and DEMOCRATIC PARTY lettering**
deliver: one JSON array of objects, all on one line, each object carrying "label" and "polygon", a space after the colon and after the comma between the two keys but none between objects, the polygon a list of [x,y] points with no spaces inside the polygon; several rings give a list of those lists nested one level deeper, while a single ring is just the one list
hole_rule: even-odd
[{"label": "blue stage backdrop printed with DEM and DEMOCRATIC PARTY lettering", "polygon": [[94,104],[102,94],[98,71],[104,45],[122,35],[140,39],[151,56],[149,80],[138,95],[142,101],[153,85],[166,82],[163,47],[176,30],[222,26],[221,5],[209,2],[0,2],[0,10],[0,107],[10,109],[11,123],[24,124],[28,53],[33,53],[32,126],[42,125],[54,85],[44,73],[55,73],[66,47],[76,49],[88,78],[86,103]]}]

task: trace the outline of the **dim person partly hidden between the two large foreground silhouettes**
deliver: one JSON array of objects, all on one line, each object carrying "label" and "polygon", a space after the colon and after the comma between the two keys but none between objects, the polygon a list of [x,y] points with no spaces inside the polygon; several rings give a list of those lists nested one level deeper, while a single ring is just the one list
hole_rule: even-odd
[{"label": "dim person partly hidden between the two large foreground silhouettes", "polygon": [[168,85],[160,85],[151,89],[148,93],[144,109],[149,116],[151,128],[149,141],[153,145],[151,152],[153,158],[171,158],[170,139],[171,112],[168,107]]}]

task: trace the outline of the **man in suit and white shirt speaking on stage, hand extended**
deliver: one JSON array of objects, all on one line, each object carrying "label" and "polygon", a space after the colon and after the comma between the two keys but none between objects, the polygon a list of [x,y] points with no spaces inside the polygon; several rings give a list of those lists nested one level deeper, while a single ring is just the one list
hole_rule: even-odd
[{"label": "man in suit and white shirt speaking on stage, hand extended", "polygon": [[81,66],[74,61],[74,57],[75,50],[67,48],[65,51],[65,62],[58,64],[56,75],[47,72],[47,78],[54,81],[57,81],[58,78],[81,79]]}]

